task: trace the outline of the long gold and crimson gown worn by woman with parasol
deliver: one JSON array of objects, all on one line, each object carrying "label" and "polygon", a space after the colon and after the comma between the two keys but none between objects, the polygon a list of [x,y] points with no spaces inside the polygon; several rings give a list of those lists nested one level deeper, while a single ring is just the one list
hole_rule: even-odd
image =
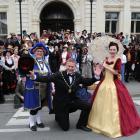
[{"label": "long gold and crimson gown worn by woman with parasol", "polygon": [[[120,72],[120,58],[114,62],[107,60],[106,64]],[[104,79],[95,89],[88,127],[112,138],[129,136],[140,128],[140,116],[128,90],[119,76],[107,69]]]}]

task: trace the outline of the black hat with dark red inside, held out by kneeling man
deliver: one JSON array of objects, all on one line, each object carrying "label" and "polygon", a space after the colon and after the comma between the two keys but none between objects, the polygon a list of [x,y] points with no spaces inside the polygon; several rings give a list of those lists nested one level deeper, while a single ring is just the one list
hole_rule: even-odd
[{"label": "black hat with dark red inside, held out by kneeling man", "polygon": [[19,58],[18,70],[20,75],[29,74],[29,71],[32,71],[33,68],[34,68],[34,59],[31,56],[25,55]]}]

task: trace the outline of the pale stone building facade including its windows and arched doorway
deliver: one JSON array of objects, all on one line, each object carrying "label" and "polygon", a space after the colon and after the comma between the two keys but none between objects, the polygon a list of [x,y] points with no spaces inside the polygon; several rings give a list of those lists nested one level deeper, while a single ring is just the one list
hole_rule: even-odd
[{"label": "pale stone building facade including its windows and arched doorway", "polygon": [[[57,4],[61,7],[58,11],[54,7],[54,11],[60,13],[59,15],[51,14],[49,7],[53,7],[54,3],[56,7]],[[60,18],[58,22],[64,18],[61,20],[63,24],[67,15],[69,18],[72,15],[70,20],[73,30],[86,29],[90,32],[90,0],[22,0],[21,9],[22,29],[28,33],[37,32],[40,35],[41,30],[47,28],[48,19],[51,25],[56,22],[55,16]],[[48,13],[47,9],[49,9]],[[64,14],[65,12],[67,14]],[[41,24],[44,20],[41,15],[44,19],[45,15],[47,16],[44,24]],[[0,0],[0,36],[6,36],[11,32],[20,33],[19,2],[18,0]],[[140,34],[140,0],[93,0],[92,32]]]}]

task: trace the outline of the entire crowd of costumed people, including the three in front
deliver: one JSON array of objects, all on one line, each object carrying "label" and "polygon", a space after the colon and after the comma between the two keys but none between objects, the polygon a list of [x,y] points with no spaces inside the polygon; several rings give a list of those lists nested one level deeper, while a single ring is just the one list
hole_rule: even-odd
[{"label": "entire crowd of costumed people, including the three in front", "polygon": [[[20,35],[10,34],[5,41],[0,41],[0,103],[5,102],[5,95],[15,94],[24,103],[24,107],[30,110],[29,127],[32,131],[37,131],[37,127],[45,127],[40,118],[40,110],[47,105],[64,131],[69,130],[69,113],[80,109],[82,111],[77,129],[93,130],[113,138],[133,134],[140,127],[140,117],[123,83],[132,78],[140,81],[140,44],[135,36],[128,38],[122,32],[112,35],[124,47],[122,57],[116,57],[119,48],[111,42],[108,48],[110,57],[102,65],[98,65],[94,63],[88,50],[90,43],[101,36],[105,34],[90,34],[86,30],[43,30],[40,38],[36,33],[27,34],[26,31],[22,38]],[[21,62],[21,58],[25,62]],[[28,58],[32,58],[34,63]],[[33,71],[24,73],[28,64],[32,64]],[[83,102],[76,96],[79,84],[86,87],[98,80],[101,82],[95,89],[91,103]],[[106,85],[111,88],[107,90]],[[110,92],[109,98],[104,95],[107,92]],[[103,99],[105,110],[101,109],[99,98]],[[107,102],[110,103],[108,106]],[[111,114],[107,114],[106,110],[110,107]],[[131,110],[131,113],[128,115],[126,110]],[[125,124],[125,118],[131,126]],[[110,128],[106,129],[108,126]]]}]

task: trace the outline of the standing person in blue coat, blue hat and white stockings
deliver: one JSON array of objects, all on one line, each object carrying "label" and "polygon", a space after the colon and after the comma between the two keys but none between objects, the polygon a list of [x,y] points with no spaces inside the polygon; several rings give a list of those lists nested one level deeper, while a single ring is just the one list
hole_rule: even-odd
[{"label": "standing person in blue coat, blue hat and white stockings", "polygon": [[[42,43],[36,43],[30,50],[30,54],[35,60],[34,72],[42,77],[49,77],[51,74],[49,65],[45,62],[48,49]],[[49,109],[51,106],[51,84],[44,84],[30,79],[27,75],[24,93],[24,107],[30,110],[29,127],[32,131],[37,131],[37,127],[44,128],[40,118],[40,110],[47,101]]]}]

